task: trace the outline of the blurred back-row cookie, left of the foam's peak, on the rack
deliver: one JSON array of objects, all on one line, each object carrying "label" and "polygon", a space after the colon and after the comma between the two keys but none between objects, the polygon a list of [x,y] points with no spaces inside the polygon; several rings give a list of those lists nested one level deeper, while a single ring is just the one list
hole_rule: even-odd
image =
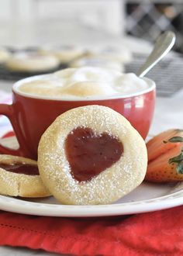
[{"label": "blurred back-row cookie, left of the foam's peak, on the rack", "polygon": [[52,54],[58,58],[61,64],[67,64],[78,57],[82,57],[85,54],[83,47],[74,45],[60,45],[52,47],[40,48],[40,54],[49,55]]}]

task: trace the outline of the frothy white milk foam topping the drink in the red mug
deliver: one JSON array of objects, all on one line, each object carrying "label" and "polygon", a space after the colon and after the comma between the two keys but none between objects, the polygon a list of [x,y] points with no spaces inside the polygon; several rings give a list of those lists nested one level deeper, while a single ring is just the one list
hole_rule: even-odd
[{"label": "frothy white milk foam topping the drink in the red mug", "polygon": [[98,99],[139,94],[152,84],[133,73],[123,74],[102,67],[79,67],[29,78],[16,90],[38,98]]}]

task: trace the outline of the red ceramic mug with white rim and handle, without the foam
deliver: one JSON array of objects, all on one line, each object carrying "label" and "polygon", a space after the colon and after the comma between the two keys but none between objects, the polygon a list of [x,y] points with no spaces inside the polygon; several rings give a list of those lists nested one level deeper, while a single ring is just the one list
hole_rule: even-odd
[{"label": "red ceramic mug with white rim and handle, without the foam", "polygon": [[19,85],[36,80],[41,76],[22,79],[12,87],[12,105],[0,104],[0,115],[10,119],[19,142],[19,149],[13,150],[0,145],[0,153],[19,155],[36,159],[40,137],[57,116],[79,106],[108,106],[126,117],[145,139],[154,115],[155,83],[145,79],[150,87],[143,92],[108,99],[63,100],[27,95],[19,92]]}]

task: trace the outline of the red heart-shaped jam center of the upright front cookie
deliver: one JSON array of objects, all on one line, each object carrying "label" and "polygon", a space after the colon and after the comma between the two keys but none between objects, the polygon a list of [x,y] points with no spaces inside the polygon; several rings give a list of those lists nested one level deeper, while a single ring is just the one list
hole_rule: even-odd
[{"label": "red heart-shaped jam center of the upright front cookie", "polygon": [[96,135],[93,130],[78,127],[65,140],[71,175],[86,182],[115,164],[123,154],[123,144],[109,133]]}]

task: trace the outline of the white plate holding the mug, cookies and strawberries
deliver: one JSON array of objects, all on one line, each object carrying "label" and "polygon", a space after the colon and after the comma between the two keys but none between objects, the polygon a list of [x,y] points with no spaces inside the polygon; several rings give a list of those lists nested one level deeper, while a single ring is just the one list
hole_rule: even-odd
[{"label": "white plate holding the mug, cookies and strawberries", "polygon": [[[12,138],[4,140],[9,147]],[[15,144],[13,145],[15,146]],[[13,213],[25,213],[40,216],[115,216],[133,213],[146,213],[168,209],[183,204],[183,182],[171,184],[153,184],[143,182],[128,195],[110,205],[65,206],[54,197],[46,199],[16,199],[0,195],[0,209]]]}]

